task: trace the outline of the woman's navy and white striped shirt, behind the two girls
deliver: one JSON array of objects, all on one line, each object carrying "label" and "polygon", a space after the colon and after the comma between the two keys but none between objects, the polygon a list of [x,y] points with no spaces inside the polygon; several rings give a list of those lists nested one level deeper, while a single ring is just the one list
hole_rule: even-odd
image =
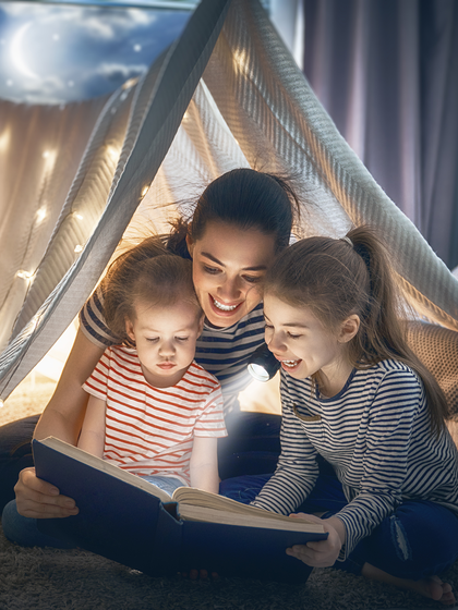
[{"label": "woman's navy and white striped shirt, behind the two girls", "polygon": [[[250,355],[264,342],[264,327],[262,303],[229,328],[204,325],[195,361],[220,382],[226,415],[237,404],[239,392],[252,381],[246,365]],[[106,325],[100,285],[80,313],[80,328],[89,341],[103,349],[120,343]]]}]

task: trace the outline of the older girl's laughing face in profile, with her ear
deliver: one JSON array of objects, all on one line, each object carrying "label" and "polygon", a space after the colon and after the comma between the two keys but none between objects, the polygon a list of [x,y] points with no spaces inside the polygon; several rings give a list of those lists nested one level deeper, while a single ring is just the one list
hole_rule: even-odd
[{"label": "older girl's laughing face in profile, with her ear", "polygon": [[265,340],[281,368],[294,379],[323,374],[325,388],[334,395],[340,391],[351,371],[345,343],[359,328],[358,316],[350,316],[337,330],[329,330],[306,307],[293,307],[266,294]]}]

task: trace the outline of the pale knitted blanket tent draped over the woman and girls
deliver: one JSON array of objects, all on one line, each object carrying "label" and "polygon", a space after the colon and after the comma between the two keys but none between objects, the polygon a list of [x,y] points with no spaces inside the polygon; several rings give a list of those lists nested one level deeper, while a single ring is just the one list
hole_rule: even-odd
[{"label": "pale knitted blanket tent draped over the woman and girls", "polygon": [[[296,176],[303,236],[376,225],[419,315],[458,330],[458,281],[339,135],[257,0],[203,0],[180,40],[129,85],[106,100],[47,249],[19,278],[28,282],[21,298],[9,259],[4,293],[16,296],[0,302],[2,398],[77,314],[124,232],[167,231],[190,212],[167,204],[195,200],[236,167]],[[24,247],[21,270],[26,258]]]}]

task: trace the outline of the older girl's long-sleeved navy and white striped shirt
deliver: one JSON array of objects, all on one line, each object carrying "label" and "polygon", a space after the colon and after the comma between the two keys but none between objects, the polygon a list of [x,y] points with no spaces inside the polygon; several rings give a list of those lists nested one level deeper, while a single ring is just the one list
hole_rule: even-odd
[{"label": "older girl's long-sleeved navy and white striped shirt", "polygon": [[254,504],[289,514],[318,476],[320,453],[335,468],[348,504],[339,560],[403,500],[430,500],[458,514],[458,452],[448,430],[431,432],[423,383],[406,365],[384,361],[353,370],[335,396],[311,379],[281,371],[281,456]]}]

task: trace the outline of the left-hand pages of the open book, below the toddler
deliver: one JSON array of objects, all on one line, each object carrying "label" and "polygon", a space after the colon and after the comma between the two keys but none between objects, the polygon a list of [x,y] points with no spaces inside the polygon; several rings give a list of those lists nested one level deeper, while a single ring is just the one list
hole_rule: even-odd
[{"label": "left-hand pages of the open book, below the toddler", "polygon": [[55,437],[48,437],[37,442],[40,442],[41,444],[46,444],[46,447],[49,447],[50,449],[53,449],[59,453],[63,453],[64,455],[68,455],[69,457],[72,457],[77,462],[82,462],[83,464],[92,466],[97,471],[101,471],[104,473],[107,473],[108,475],[119,478],[128,483],[129,485],[132,485],[133,487],[138,487],[140,489],[143,489],[147,493],[150,493],[152,496],[156,496],[156,498],[159,498],[161,502],[171,501],[171,498],[167,493],[167,491],[159,489],[158,487],[148,483],[147,480],[144,480],[140,476],[133,475],[132,473],[129,473],[123,468],[119,468],[118,466],[114,466],[114,464],[110,464],[105,460],[100,460],[100,457],[97,457],[96,455],[92,455],[92,453],[87,453],[87,451],[84,451],[79,447],[74,447],[73,444],[70,444]]}]

